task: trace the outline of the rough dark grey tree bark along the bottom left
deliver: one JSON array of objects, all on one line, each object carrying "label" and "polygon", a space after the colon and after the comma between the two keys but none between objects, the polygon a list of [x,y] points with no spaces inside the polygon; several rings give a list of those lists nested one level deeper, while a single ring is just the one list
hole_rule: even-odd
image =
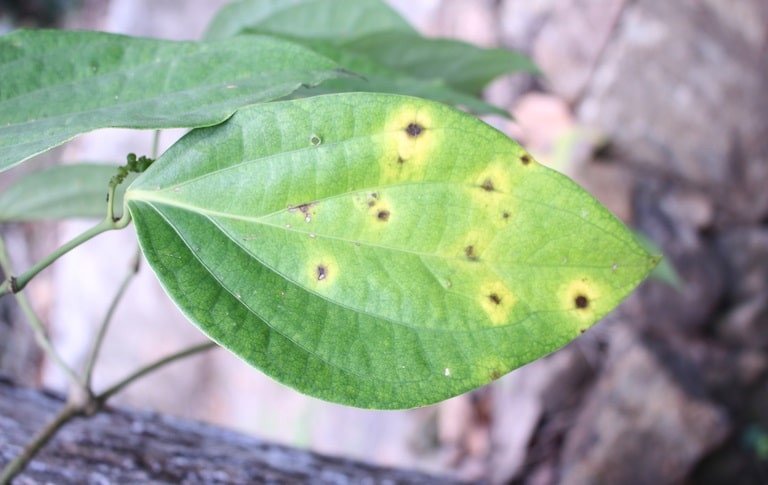
[{"label": "rough dark grey tree bark along the bottom left", "polygon": [[[0,465],[63,405],[0,378]],[[108,408],[65,426],[14,484],[453,483],[322,456],[159,414]]]}]

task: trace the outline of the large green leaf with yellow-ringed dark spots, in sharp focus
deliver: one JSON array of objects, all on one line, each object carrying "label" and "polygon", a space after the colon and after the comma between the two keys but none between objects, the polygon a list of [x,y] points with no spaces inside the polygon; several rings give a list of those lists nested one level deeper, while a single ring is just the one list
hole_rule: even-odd
[{"label": "large green leaf with yellow-ringed dark spots, in sharp focus", "polygon": [[657,262],[502,133],[403,96],[242,109],[182,138],[126,200],[190,320],[359,407],[434,403],[542,357]]}]

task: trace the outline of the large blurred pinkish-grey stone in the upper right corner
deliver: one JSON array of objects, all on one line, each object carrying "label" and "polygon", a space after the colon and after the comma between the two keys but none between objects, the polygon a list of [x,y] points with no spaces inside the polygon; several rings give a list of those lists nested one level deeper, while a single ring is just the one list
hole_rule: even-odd
[{"label": "large blurred pinkish-grey stone in the upper right corner", "polygon": [[737,25],[754,22],[741,16],[766,25],[768,13],[757,7],[764,2],[746,3],[754,12],[730,10],[727,0],[631,2],[578,114],[622,158],[694,184],[732,188],[745,163],[755,173],[741,178],[743,189],[764,206],[768,78],[757,73],[768,58],[761,39]]}]

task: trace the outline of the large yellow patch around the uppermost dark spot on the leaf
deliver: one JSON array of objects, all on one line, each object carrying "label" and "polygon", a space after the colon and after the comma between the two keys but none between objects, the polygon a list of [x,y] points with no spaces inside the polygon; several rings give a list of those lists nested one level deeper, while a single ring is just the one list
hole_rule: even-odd
[{"label": "large yellow patch around the uppermost dark spot on the leaf", "polygon": [[443,136],[434,127],[429,109],[416,105],[401,107],[387,120],[381,143],[385,181],[422,178],[429,157]]}]

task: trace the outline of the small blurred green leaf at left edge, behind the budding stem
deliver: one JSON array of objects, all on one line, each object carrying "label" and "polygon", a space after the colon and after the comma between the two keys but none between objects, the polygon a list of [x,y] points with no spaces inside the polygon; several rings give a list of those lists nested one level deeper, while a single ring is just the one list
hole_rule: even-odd
[{"label": "small blurred green leaf at left edge, behind the budding stem", "polygon": [[[39,221],[107,214],[107,183],[115,165],[57,165],[32,172],[0,193],[0,222]],[[118,188],[116,207],[128,184]]]}]

